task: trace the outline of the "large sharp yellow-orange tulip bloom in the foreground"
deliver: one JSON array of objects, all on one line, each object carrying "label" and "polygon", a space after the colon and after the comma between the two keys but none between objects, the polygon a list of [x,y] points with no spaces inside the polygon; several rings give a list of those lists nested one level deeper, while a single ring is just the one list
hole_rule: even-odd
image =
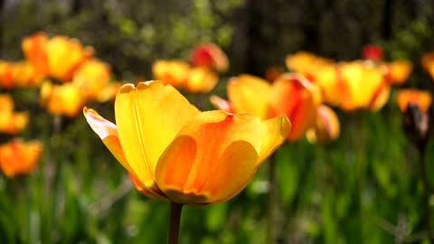
[{"label": "large sharp yellow-orange tulip bloom in the foreground", "polygon": [[200,112],[160,81],[118,91],[117,125],[92,109],[84,115],[139,191],[186,204],[223,202],[241,192],[290,128],[287,117]]}]

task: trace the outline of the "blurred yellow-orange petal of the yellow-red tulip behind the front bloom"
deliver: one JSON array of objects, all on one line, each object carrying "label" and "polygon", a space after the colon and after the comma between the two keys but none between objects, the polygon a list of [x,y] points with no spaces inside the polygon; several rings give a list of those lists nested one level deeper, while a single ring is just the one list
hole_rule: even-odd
[{"label": "blurred yellow-orange petal of the yellow-red tulip behind the front bloom", "polygon": [[237,113],[249,113],[265,119],[269,117],[270,85],[267,80],[243,74],[228,84],[228,97]]}]

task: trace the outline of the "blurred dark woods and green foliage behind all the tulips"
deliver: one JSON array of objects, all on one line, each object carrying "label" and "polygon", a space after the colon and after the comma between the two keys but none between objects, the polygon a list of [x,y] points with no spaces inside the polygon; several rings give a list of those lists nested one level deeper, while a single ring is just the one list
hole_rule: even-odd
[{"label": "blurred dark woods and green foliage behind all the tulips", "polygon": [[[434,198],[425,195],[418,164],[425,156],[432,183],[434,145],[420,156],[411,144],[396,94],[434,90],[420,62],[434,51],[433,26],[428,0],[0,0],[0,59],[23,60],[22,41],[33,33],[65,35],[92,46],[113,80],[137,82],[153,79],[155,61],[188,60],[195,45],[213,42],[230,68],[209,94],[226,98],[232,76],[288,70],[288,54],[354,61],[364,45],[378,44],[384,61],[413,63],[408,80],[392,87],[379,111],[335,109],[335,142],[302,138],[278,149],[275,243],[429,243],[422,209]],[[30,115],[19,136],[43,145],[31,174],[0,175],[1,243],[165,243],[169,204],[134,189],[84,117],[47,113],[39,89],[1,91]],[[213,109],[209,94],[184,94]],[[86,105],[114,121],[112,100]],[[2,143],[11,137],[0,136]],[[186,207],[180,242],[267,243],[267,177],[264,164],[230,202]]]}]

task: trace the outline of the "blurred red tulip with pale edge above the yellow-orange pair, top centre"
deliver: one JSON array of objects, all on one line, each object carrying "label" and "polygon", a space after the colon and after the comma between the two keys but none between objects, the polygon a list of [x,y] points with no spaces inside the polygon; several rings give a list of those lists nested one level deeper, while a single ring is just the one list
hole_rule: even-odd
[{"label": "blurred red tulip with pale edge above the yellow-orange pair, top centre", "polygon": [[190,54],[190,63],[196,67],[205,67],[218,72],[225,72],[229,67],[228,57],[214,43],[197,45]]}]

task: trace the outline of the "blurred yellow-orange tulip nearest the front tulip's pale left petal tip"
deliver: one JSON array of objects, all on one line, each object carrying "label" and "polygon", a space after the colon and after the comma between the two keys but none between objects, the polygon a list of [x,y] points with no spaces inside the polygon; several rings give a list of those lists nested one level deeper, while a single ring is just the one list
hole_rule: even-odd
[{"label": "blurred yellow-orange tulip nearest the front tulip's pale left petal tip", "polygon": [[40,103],[53,115],[76,117],[80,114],[86,100],[74,83],[54,85],[50,81],[42,84]]}]

